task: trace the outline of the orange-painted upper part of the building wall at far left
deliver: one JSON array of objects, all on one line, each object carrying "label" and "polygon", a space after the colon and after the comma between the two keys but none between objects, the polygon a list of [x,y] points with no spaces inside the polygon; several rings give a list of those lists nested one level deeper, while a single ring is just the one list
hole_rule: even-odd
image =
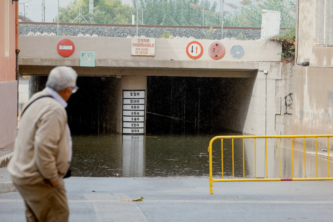
[{"label": "orange-painted upper part of the building wall at far left", "polygon": [[[9,57],[5,57],[5,1],[9,6]],[[0,0],[0,82],[15,80],[15,2]]]}]

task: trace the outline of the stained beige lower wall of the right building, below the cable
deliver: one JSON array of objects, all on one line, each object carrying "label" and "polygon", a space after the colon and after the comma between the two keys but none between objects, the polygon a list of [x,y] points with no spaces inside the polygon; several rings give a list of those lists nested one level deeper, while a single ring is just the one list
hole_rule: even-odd
[{"label": "stained beige lower wall of the right building, below the cable", "polygon": [[332,134],[332,68],[295,67],[293,134]]}]

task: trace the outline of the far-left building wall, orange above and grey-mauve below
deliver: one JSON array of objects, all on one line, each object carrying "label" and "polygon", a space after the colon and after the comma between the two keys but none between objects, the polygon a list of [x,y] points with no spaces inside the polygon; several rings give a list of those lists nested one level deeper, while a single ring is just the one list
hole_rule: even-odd
[{"label": "far-left building wall, orange above and grey-mauve below", "polygon": [[0,149],[14,142],[17,126],[15,4],[0,0]]}]

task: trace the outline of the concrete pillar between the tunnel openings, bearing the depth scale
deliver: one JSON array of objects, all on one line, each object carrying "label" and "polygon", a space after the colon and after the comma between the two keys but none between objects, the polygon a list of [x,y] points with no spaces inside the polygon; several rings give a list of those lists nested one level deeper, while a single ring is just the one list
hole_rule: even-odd
[{"label": "concrete pillar between the tunnel openings, bearing the depth scale", "polygon": [[146,133],[147,76],[122,76],[117,99],[117,132]]}]

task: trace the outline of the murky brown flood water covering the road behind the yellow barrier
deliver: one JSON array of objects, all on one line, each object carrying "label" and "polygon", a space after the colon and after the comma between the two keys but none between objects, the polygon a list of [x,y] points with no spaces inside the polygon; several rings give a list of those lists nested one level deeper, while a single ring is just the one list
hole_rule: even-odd
[{"label": "murky brown flood water covering the road behind the yellow barrier", "polygon": [[[226,133],[228,134],[228,133]],[[231,133],[232,134],[232,133]],[[229,133],[230,135],[230,133]],[[109,135],[73,136],[73,176],[89,177],[170,177],[209,175],[208,145],[212,135]],[[319,139],[319,138],[318,138]],[[326,138],[327,140],[327,138]],[[309,152],[315,147],[306,146],[304,169],[304,145],[277,139],[268,139],[267,165],[265,139],[244,140],[244,158],[241,139],[234,140],[234,177],[242,178],[290,178],[316,177],[316,158]],[[318,152],[321,148],[318,147]],[[327,153],[327,152],[326,152]],[[244,159],[244,168],[243,168]],[[280,167],[279,167],[280,159]],[[330,161],[330,176],[333,162]],[[318,177],[327,177],[327,159],[318,157]],[[213,176],[222,176],[221,140],[213,143]],[[266,167],[267,166],[267,167]],[[231,139],[223,140],[223,176],[232,178]]]}]

